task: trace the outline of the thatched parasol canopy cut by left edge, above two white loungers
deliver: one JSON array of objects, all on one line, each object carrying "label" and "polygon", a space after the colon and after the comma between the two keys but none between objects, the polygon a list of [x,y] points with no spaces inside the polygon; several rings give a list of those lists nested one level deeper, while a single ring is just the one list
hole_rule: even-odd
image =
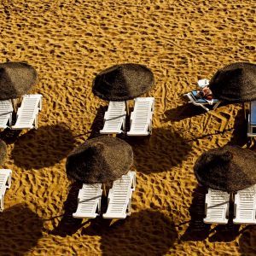
[{"label": "thatched parasol canopy cut by left edge, above two white loungers", "polygon": [[28,92],[37,81],[37,71],[23,62],[0,64],[0,100],[18,98]]}]

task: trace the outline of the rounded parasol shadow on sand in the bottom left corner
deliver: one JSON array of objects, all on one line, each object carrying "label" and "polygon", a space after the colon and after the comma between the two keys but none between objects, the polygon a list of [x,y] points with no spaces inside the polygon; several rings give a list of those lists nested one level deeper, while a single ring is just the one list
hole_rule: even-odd
[{"label": "rounded parasol shadow on sand in the bottom left corner", "polygon": [[24,255],[43,236],[43,221],[26,205],[18,204],[0,214],[0,254]]}]

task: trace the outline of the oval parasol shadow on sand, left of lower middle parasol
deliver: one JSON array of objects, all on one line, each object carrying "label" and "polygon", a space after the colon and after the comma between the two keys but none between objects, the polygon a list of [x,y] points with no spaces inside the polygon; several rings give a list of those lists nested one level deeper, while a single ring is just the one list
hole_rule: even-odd
[{"label": "oval parasol shadow on sand, left of lower middle parasol", "polygon": [[46,125],[27,131],[15,142],[11,157],[26,170],[54,166],[73,149],[75,139],[64,125]]}]

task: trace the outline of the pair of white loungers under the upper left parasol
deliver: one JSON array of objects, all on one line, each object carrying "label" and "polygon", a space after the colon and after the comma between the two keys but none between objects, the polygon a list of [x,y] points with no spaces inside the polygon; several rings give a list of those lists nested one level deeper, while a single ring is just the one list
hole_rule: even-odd
[{"label": "pair of white loungers under the upper left parasol", "polygon": [[0,101],[0,129],[8,127],[13,130],[37,129],[38,112],[42,109],[42,99],[43,96],[40,94],[22,96],[15,125],[12,125],[14,109],[11,100]]}]

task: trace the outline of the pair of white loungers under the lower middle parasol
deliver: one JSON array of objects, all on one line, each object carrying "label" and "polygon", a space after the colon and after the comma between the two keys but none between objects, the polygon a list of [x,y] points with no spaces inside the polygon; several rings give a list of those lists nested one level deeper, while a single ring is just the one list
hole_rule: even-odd
[{"label": "pair of white loungers under the lower middle parasol", "polygon": [[[103,218],[126,218],[131,215],[131,195],[136,186],[136,172],[128,172],[113,182],[108,193],[108,210]],[[102,183],[83,184],[79,205],[73,218],[96,218],[101,213]]]}]

